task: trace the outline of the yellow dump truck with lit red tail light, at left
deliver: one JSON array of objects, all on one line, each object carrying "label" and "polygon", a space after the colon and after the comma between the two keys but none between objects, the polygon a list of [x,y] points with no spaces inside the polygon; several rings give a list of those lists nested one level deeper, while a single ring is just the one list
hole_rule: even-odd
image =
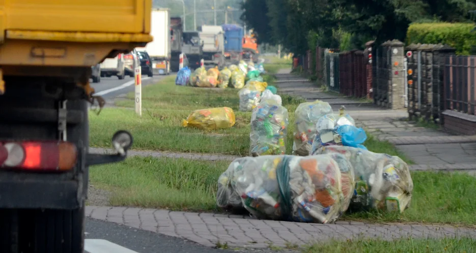
[{"label": "yellow dump truck with lit red tail light, at left", "polygon": [[[82,253],[91,66],[152,41],[152,0],[0,1],[0,252]],[[100,116],[100,115],[99,115]]]}]

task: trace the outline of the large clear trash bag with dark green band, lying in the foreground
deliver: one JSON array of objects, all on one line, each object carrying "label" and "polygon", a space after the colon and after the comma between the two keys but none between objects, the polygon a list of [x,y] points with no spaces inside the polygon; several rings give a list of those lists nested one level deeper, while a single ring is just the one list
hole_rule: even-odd
[{"label": "large clear trash bag with dark green band, lying in the foreground", "polygon": [[353,178],[339,153],[242,157],[218,178],[217,205],[244,207],[258,218],[325,224],[347,210]]}]

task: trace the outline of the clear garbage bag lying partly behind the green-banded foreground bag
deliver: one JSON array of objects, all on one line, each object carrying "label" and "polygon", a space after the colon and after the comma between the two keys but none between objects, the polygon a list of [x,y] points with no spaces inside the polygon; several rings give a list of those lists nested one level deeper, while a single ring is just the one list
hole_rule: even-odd
[{"label": "clear garbage bag lying partly behind the green-banded foreground bag", "polygon": [[343,154],[352,164],[356,183],[352,209],[403,212],[409,207],[413,180],[400,157],[346,146],[321,147],[317,153]]}]

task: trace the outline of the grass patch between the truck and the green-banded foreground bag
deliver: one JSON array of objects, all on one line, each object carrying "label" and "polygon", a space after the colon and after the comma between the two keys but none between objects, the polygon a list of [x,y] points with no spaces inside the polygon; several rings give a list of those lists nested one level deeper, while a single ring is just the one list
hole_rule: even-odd
[{"label": "grass patch between the truck and the green-banded foreground bag", "polygon": [[228,162],[130,157],[93,167],[91,183],[110,191],[114,206],[215,210],[217,179]]}]

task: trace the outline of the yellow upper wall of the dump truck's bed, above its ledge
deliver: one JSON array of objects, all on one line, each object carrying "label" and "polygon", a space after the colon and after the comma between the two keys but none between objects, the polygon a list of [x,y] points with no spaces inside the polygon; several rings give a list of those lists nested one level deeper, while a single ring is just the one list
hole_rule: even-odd
[{"label": "yellow upper wall of the dump truck's bed, above its ledge", "polygon": [[0,28],[149,34],[151,8],[144,0],[0,1]]}]

